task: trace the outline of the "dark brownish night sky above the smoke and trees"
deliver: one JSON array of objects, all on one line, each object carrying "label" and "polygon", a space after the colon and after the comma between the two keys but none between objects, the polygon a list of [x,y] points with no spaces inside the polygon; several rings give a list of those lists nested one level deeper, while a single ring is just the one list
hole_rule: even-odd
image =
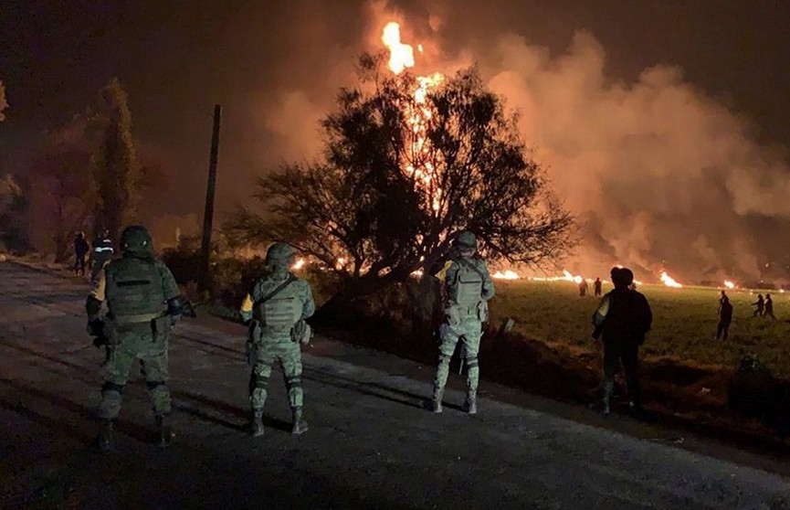
[{"label": "dark brownish night sky above the smoke and trees", "polygon": [[[368,3],[70,0],[0,1],[0,172],[118,76],[131,97],[134,134],[184,181],[166,207],[200,211],[211,112],[224,106],[218,207],[248,195],[254,175],[285,158],[269,117],[279,94],[308,90],[328,105],[369,49]],[[752,123],[761,143],[790,144],[790,3],[779,1],[392,1],[418,37],[439,14],[446,55],[504,33],[562,53],[586,29],[606,51],[609,80],[651,66],[684,80]],[[377,49],[377,48],[376,48]],[[281,105],[279,105],[281,107]],[[307,136],[314,125],[301,129]],[[154,207],[164,207],[156,204]]]}]

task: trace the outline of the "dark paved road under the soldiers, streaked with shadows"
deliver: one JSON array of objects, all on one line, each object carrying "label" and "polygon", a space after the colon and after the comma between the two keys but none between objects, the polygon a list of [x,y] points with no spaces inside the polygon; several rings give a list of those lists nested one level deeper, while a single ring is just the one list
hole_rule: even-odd
[{"label": "dark paved road under the soldiers, streaked with shadows", "polygon": [[290,436],[273,377],[269,430],[253,440],[241,328],[212,321],[177,327],[174,446],[148,442],[138,380],[124,392],[118,452],[101,455],[90,448],[101,356],[84,348],[84,293],[0,263],[4,508],[790,508],[779,475],[523,406],[482,398],[478,416],[435,416],[421,409],[429,368],[326,340],[304,360],[311,430]]}]

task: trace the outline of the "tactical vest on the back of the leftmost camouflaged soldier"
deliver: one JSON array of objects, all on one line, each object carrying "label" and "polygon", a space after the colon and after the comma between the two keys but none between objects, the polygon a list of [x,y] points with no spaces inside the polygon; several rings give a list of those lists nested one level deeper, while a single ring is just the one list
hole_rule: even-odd
[{"label": "tactical vest on the back of the leftmost camouflaged soldier", "polygon": [[151,259],[126,257],[105,267],[107,307],[118,324],[145,323],[164,313],[162,274]]}]

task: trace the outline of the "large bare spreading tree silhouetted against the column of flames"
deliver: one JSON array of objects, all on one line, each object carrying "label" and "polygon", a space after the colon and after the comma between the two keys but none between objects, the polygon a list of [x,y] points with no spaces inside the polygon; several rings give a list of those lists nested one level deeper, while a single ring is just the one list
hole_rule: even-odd
[{"label": "large bare spreading tree silhouetted against the column of flames", "polygon": [[494,260],[536,263],[569,248],[573,219],[476,69],[384,76],[369,55],[360,69],[359,87],[341,90],[321,122],[324,157],[259,178],[262,210],[232,222],[242,239],[288,241],[356,292],[430,268],[459,229]]}]

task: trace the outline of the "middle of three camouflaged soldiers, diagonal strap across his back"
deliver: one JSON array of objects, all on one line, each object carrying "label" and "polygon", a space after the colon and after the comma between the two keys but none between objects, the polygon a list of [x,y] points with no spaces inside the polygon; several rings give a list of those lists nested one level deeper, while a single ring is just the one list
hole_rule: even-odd
[{"label": "middle of three camouflaged soldiers, diagonal strap across his back", "polygon": [[293,249],[276,243],[266,253],[268,274],[255,282],[241,305],[241,318],[250,325],[248,352],[252,373],[249,377],[249,404],[252,409],[253,436],[263,434],[263,405],[271,366],[278,361],[288,388],[293,413],[294,434],[307,431],[302,418],[300,344],[310,341],[310,326],[304,322],[315,312],[310,284],[290,273]]}]

